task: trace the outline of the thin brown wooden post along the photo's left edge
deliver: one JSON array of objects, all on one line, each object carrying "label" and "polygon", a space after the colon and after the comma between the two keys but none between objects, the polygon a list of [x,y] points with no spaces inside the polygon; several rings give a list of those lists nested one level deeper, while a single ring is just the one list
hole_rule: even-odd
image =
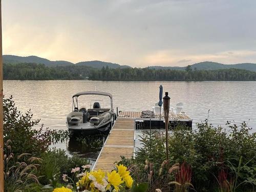
[{"label": "thin brown wooden post along the photo's left edge", "polygon": [[0,192],[4,192],[2,1],[0,0]]}]

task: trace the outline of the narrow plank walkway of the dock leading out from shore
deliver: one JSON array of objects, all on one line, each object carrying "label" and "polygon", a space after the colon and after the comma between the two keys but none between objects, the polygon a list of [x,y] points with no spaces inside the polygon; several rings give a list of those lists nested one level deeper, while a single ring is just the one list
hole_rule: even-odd
[{"label": "narrow plank walkway of the dock leading out from shore", "polygon": [[93,169],[111,172],[120,156],[131,158],[134,153],[135,121],[133,118],[117,118],[102,147]]}]

